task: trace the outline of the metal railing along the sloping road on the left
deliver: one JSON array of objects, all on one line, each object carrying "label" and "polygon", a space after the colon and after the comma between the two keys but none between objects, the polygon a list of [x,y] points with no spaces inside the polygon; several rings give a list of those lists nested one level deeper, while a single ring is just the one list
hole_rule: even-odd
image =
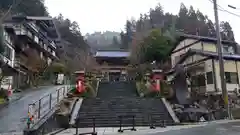
[{"label": "metal railing along the sloping road on the left", "polygon": [[67,95],[71,90],[70,86],[63,86],[43,97],[39,100],[28,104],[28,121],[27,128],[37,123],[46,114],[54,109],[54,107]]}]

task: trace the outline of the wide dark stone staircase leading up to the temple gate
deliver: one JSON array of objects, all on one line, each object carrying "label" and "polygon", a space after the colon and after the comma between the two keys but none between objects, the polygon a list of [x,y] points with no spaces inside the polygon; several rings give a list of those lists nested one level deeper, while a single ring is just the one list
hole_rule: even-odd
[{"label": "wide dark stone staircase leading up to the temple gate", "polygon": [[79,111],[78,127],[117,127],[119,116],[123,116],[123,126],[131,126],[135,118],[136,126],[149,126],[150,117],[154,125],[172,125],[174,122],[161,99],[140,98],[134,82],[101,83],[97,98],[83,100]]}]

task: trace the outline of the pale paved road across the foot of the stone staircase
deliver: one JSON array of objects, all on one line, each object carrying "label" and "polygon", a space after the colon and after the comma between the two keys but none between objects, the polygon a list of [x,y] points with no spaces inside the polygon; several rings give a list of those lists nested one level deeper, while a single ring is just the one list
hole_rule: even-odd
[{"label": "pale paved road across the foot of the stone staircase", "polygon": [[[149,129],[136,127],[137,131],[118,133],[117,127],[96,128],[99,135],[240,135],[240,121],[221,120],[195,125],[168,126],[166,128]],[[92,132],[92,128],[79,128],[79,133]],[[63,130],[56,135],[73,135],[76,129]],[[49,133],[48,135],[51,135]]]}]

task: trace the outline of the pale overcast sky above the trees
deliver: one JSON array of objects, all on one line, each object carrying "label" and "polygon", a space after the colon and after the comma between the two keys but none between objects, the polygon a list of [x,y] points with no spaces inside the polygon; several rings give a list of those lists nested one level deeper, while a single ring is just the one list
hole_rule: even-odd
[{"label": "pale overcast sky above the trees", "polygon": [[[188,8],[199,9],[214,21],[211,0],[45,0],[51,16],[63,14],[72,21],[77,21],[83,35],[95,31],[121,31],[127,19],[138,18],[140,13],[149,12],[160,3],[164,12],[177,14],[180,3]],[[234,31],[235,39],[240,43],[240,0],[217,0],[225,10],[238,14],[239,17],[219,11],[219,20],[228,21]],[[233,5],[239,9],[231,9]]]}]

